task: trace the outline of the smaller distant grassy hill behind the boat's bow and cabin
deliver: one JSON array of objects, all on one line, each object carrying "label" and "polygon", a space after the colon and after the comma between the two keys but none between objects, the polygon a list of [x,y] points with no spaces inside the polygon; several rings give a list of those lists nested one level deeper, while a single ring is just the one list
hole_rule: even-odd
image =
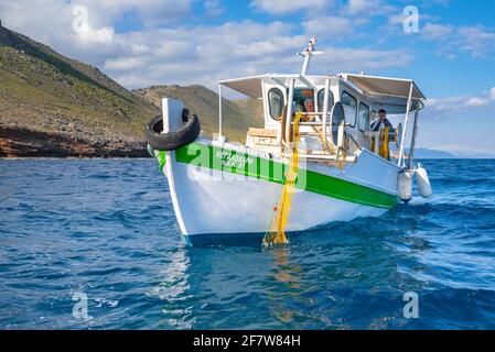
[{"label": "smaller distant grassy hill behind the boat's bow and cabin", "polygon": [[[161,97],[184,102],[190,111],[195,112],[202,131],[208,138],[218,133],[218,95],[203,86],[153,86],[134,92],[160,107]],[[223,100],[223,134],[232,141],[244,143],[250,127],[262,127],[262,103],[255,99]]]}]

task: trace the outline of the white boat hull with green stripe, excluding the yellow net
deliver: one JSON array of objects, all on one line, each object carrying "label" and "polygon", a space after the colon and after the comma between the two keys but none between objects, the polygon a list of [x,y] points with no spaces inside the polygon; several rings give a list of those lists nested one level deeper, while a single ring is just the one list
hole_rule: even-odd
[{"label": "white boat hull with green stripe, excluding the yellow net", "polygon": [[[203,161],[187,154],[202,154]],[[282,165],[282,160],[245,146],[216,145],[206,140],[197,140],[179,151],[155,152],[155,156],[169,179],[186,242],[194,243],[208,234],[267,231],[282,179],[256,167],[247,170],[246,165],[252,161]],[[368,152],[361,153],[356,164],[343,168],[316,163],[300,165],[300,172],[309,176],[295,189],[286,230],[303,231],[332,221],[384,215],[398,204],[398,170],[392,163]]]}]

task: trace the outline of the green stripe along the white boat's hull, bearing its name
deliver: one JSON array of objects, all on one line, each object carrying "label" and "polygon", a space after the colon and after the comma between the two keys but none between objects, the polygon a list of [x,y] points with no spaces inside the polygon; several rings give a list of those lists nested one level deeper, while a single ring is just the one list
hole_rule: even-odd
[{"label": "green stripe along the white boat's hull, bearing its name", "polygon": [[[213,145],[192,143],[175,151],[175,161],[257,179],[283,183],[283,163]],[[295,187],[302,190],[377,208],[392,208],[396,196],[309,169],[299,169]]]}]

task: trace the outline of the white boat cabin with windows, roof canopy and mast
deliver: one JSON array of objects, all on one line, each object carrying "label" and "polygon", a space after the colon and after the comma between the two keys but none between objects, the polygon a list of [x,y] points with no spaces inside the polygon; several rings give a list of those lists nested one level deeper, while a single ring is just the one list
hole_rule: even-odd
[{"label": "white boat cabin with windows, roof canopy and mast", "polygon": [[[411,155],[405,155],[406,132],[409,117],[413,116],[409,147],[412,154],[418,114],[426,100],[416,82],[364,74],[311,76],[306,72],[312,54],[304,52],[305,62],[299,75],[268,74],[219,81],[220,138],[222,87],[228,87],[263,102],[265,128],[249,129],[246,138],[249,147],[283,153],[292,141],[294,116],[301,112],[299,132],[303,157],[353,162],[359,152],[366,151],[397,161],[399,166],[406,158],[412,163]],[[381,109],[388,116],[403,114],[403,123],[385,131],[383,125],[375,129],[373,123]],[[383,143],[387,144],[385,154],[380,150]],[[395,143],[398,152],[389,153],[388,143]]]}]

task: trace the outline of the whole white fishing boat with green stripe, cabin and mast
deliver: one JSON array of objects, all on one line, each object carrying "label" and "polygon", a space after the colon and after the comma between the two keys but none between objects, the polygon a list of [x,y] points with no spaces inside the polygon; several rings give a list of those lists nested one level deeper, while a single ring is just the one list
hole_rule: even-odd
[{"label": "whole white fishing boat with green stripe, cabin and mast", "polygon": [[[379,217],[411,199],[415,176],[420,195],[431,195],[428,174],[413,156],[426,101],[417,84],[365,74],[310,75],[320,54],[314,37],[299,54],[298,74],[218,81],[219,129],[213,139],[201,135],[201,111],[196,116],[179,100],[163,98],[162,116],[147,124],[149,152],[168,178],[186,243],[228,243],[239,235]],[[262,101],[265,128],[250,128],[244,144],[223,134],[225,87]],[[403,120],[377,129],[379,110]]]}]

